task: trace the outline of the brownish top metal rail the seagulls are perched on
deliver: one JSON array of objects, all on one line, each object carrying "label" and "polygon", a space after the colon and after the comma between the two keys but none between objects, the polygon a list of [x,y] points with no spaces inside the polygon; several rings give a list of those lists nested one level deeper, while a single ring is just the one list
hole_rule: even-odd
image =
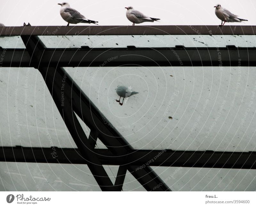
[{"label": "brownish top metal rail the seagulls are perched on", "polygon": [[255,35],[256,26],[162,25],[162,26],[6,26],[0,36],[10,35],[157,35],[157,34]]}]

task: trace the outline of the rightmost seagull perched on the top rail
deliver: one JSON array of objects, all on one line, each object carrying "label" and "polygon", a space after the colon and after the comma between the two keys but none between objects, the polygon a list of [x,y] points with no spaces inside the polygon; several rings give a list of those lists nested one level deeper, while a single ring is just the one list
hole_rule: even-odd
[{"label": "rightmost seagull perched on the top rail", "polygon": [[[238,16],[235,14],[232,14],[227,9],[223,8],[220,4],[217,4],[215,7],[215,14],[216,16],[221,20],[221,25],[223,26],[225,22],[242,22],[242,21],[248,21],[246,19],[240,19],[237,18]],[[224,24],[222,25],[222,22],[224,21]]]}]

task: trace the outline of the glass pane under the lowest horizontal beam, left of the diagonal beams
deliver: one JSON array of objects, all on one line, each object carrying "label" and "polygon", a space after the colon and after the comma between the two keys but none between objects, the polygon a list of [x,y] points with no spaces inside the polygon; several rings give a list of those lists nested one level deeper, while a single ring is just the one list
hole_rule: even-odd
[{"label": "glass pane under the lowest horizontal beam, left of the diagonal beams", "polygon": [[87,165],[0,162],[0,189],[100,191]]}]

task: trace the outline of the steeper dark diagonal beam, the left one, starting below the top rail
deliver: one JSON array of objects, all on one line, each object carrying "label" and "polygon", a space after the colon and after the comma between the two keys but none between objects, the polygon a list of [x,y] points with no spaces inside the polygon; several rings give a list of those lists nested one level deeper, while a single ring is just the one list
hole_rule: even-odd
[{"label": "steeper dark diagonal beam, the left one, starting below the top rail", "polygon": [[102,191],[116,191],[116,187],[108,177],[97,155],[92,153],[91,144],[72,109],[72,87],[65,85],[65,81],[63,82],[65,79],[60,72],[63,69],[59,68],[58,70],[58,68],[41,67],[40,60],[44,53],[44,45],[42,42],[36,37],[21,36],[21,38],[28,49],[31,59],[36,62],[34,67],[38,68],[41,72],[63,121],[81,152],[81,155],[87,160],[87,165],[99,184],[100,189]]}]

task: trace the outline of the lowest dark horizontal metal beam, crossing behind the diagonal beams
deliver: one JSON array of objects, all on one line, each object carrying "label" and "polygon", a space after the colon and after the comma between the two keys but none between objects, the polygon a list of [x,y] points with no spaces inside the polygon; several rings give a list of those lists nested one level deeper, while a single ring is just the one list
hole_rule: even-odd
[{"label": "lowest dark horizontal metal beam, crossing behind the diagonal beams", "polygon": [[[137,166],[137,172],[145,166],[256,169],[256,152],[132,150],[125,157],[105,149],[93,153],[103,165]],[[57,147],[0,147],[0,161],[87,164],[78,149]]]}]

